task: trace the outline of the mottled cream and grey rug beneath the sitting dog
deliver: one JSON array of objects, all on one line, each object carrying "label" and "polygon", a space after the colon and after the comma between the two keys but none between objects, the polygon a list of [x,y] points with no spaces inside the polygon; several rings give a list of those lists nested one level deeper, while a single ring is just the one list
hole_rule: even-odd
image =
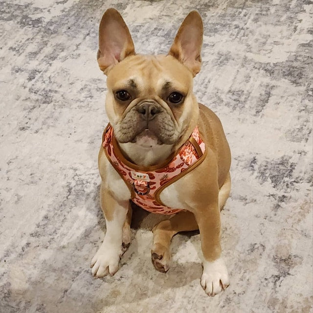
[{"label": "mottled cream and grey rug beneath the sitting dog", "polygon": [[[173,239],[162,274],[152,233],[133,229],[115,276],[91,276],[105,232],[96,52],[109,7],[142,53],[166,53],[185,15],[202,15],[194,91],[232,151],[231,285],[214,298],[200,286],[197,232]],[[309,0],[0,1],[0,312],[312,312],[312,12]]]}]

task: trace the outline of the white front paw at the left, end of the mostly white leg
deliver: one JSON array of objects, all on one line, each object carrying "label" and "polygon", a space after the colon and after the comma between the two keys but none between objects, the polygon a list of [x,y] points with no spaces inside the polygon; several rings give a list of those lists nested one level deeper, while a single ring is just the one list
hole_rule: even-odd
[{"label": "white front paw at the left, end of the mostly white leg", "polygon": [[121,247],[102,244],[91,261],[91,273],[100,278],[108,274],[113,276],[118,270],[118,263],[122,255]]}]

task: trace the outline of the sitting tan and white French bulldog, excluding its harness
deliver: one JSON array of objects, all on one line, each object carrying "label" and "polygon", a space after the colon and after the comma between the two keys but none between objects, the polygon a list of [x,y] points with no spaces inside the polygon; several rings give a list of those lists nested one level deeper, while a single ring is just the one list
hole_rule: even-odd
[{"label": "sitting tan and white French bulldog, excluding its harness", "polygon": [[[152,261],[167,271],[170,243],[180,231],[200,230],[203,253],[201,286],[211,296],[229,286],[222,258],[220,209],[230,191],[230,150],[219,118],[199,104],[193,77],[201,67],[203,24],[198,12],[182,22],[167,55],[135,54],[128,27],[115,9],[100,22],[100,69],[108,76],[106,112],[122,155],[149,168],[175,154],[196,126],[206,146],[201,164],[162,190],[164,205],[181,208],[153,228]],[[144,109],[142,109],[144,107]],[[114,275],[130,244],[132,193],[100,149],[101,207],[106,219],[103,244],[92,259],[95,277]]]}]

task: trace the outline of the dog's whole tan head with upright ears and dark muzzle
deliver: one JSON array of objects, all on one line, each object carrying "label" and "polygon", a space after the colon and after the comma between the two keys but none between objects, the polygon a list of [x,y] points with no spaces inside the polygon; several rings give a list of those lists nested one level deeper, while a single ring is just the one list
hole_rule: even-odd
[{"label": "dog's whole tan head with upright ears and dark muzzle", "polygon": [[192,88],[201,67],[202,35],[201,16],[192,11],[168,55],[135,54],[121,15],[115,9],[104,13],[97,59],[108,76],[106,111],[118,142],[175,146],[196,123],[199,109]]}]

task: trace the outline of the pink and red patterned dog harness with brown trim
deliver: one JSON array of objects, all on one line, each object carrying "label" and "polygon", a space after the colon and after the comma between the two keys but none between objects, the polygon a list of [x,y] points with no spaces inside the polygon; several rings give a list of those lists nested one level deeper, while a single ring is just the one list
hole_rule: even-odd
[{"label": "pink and red patterned dog harness with brown trim", "polygon": [[164,205],[159,195],[165,187],[197,167],[206,152],[198,127],[172,159],[148,168],[139,167],[122,155],[110,124],[103,132],[102,145],[112,166],[127,184],[132,201],[149,212],[160,214],[182,210]]}]

